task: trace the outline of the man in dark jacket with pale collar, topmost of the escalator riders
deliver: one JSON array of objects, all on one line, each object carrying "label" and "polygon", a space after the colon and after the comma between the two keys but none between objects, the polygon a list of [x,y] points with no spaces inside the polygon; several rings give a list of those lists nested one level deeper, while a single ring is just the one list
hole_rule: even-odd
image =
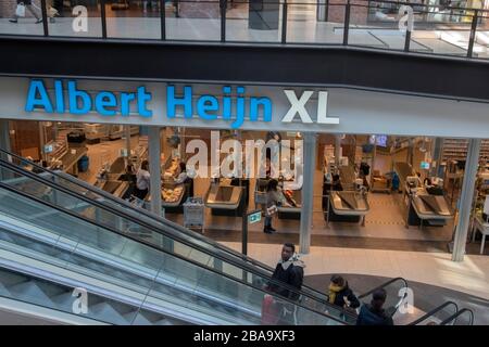
[{"label": "man in dark jacket with pale collar, topmost of the escalator riders", "polygon": [[[278,261],[272,279],[284,282],[297,290],[301,290],[304,279],[304,262],[294,254],[296,246],[291,243],[285,243],[281,247],[281,258]],[[278,283],[268,283],[268,290],[280,296],[297,300],[299,294],[287,290]]]}]

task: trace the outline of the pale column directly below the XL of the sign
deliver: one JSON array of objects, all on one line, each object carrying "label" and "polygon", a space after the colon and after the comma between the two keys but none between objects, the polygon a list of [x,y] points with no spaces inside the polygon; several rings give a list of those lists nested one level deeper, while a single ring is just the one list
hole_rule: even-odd
[{"label": "pale column directly below the XL of the sign", "polygon": [[311,227],[314,207],[314,171],[316,167],[316,134],[304,132],[303,146],[304,180],[302,184],[300,253],[308,254],[311,246]]}]

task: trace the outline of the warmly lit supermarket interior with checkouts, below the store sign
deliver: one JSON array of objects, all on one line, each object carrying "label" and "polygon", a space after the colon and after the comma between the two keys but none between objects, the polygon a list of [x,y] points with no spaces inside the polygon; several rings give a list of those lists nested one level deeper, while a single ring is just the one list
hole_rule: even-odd
[{"label": "warmly lit supermarket interior with checkouts, below the store sign", "polygon": [[[148,158],[148,137],[142,133],[143,128],[10,121],[10,129],[14,153],[138,203],[134,198],[134,174]],[[128,132],[130,143],[126,141]],[[243,146],[247,140],[273,138],[260,131],[162,128],[162,210],[165,218],[189,227],[184,204],[200,197],[203,217],[196,232],[203,232],[220,242],[237,242],[241,240],[243,211],[262,210],[262,216],[266,215],[266,185],[273,177],[269,172],[249,179],[238,175],[200,177],[189,170],[189,179],[176,182],[181,171],[179,163],[195,155],[193,150],[185,151],[192,140],[209,144],[209,163],[205,165],[211,165],[212,133],[218,134],[221,143],[235,139]],[[293,143],[301,140],[301,133],[277,134],[283,146],[286,140],[292,144],[290,153],[293,157]],[[221,159],[228,155],[221,149],[216,151]],[[447,252],[457,217],[466,151],[467,141],[463,139],[317,134],[312,246]],[[130,155],[126,156],[127,153]],[[256,174],[260,160],[266,162],[267,170],[274,166],[269,154],[267,152],[266,160],[255,156]],[[482,142],[481,163],[485,164],[488,157],[489,143]],[[128,171],[129,164],[133,168]],[[278,214],[273,218],[276,232],[266,234],[263,223],[251,224],[250,242],[299,242],[301,190],[300,187],[284,189],[284,182],[294,179],[297,172],[293,167],[289,172],[284,167],[280,165],[276,175],[283,188]],[[485,165],[478,177],[474,216],[481,215],[485,206],[489,178]],[[149,208],[150,201],[148,194],[143,206]],[[477,240],[479,237],[477,235]],[[468,244],[467,252],[478,254],[479,243]],[[488,249],[481,249],[481,253],[488,254]]]}]

